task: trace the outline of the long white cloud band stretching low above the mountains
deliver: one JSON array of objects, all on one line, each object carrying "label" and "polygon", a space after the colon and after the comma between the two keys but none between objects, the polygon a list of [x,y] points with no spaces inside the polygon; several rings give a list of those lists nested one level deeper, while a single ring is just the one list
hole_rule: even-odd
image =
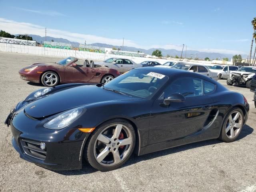
[{"label": "long white cloud band stretching low above the mountains", "polygon": [[[45,27],[26,23],[26,22],[16,22],[13,20],[8,20],[5,18],[0,18],[0,29],[4,30],[6,32],[9,32],[11,34],[35,34],[40,36],[45,36]],[[46,30],[47,36],[52,36],[56,38],[64,38],[68,39],[70,41],[84,43],[84,40],[86,40],[87,44],[91,43],[105,43],[105,44],[111,44],[111,45],[122,45],[123,40],[122,39],[113,39],[113,38],[106,38],[101,36],[95,36],[90,34],[80,34],[80,33],[74,33],[74,32],[68,32],[63,30],[57,30],[57,29],[50,29],[47,28]],[[183,45],[173,45],[173,44],[165,44],[165,45],[139,45],[136,42],[132,40],[124,40],[125,46],[131,46],[136,48],[144,48],[144,49],[150,49],[150,48],[164,48],[164,49],[176,49],[176,50],[182,50]],[[186,45],[185,45],[186,46]],[[184,49],[185,49],[184,46]],[[227,50],[227,49],[211,49],[211,48],[203,48],[203,49],[194,49],[187,47],[187,50],[198,50],[198,51],[204,51],[204,52],[218,52],[218,53],[227,53],[227,54],[245,54],[241,51],[236,50]]]}]

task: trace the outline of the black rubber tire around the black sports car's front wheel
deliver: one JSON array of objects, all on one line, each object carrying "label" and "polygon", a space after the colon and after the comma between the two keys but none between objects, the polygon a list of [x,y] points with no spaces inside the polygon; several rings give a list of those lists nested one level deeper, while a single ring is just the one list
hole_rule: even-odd
[{"label": "black rubber tire around the black sports car's front wheel", "polygon": [[[109,126],[111,126],[113,124],[122,124],[122,125],[126,126],[126,128],[128,128],[128,130],[130,130],[130,134],[131,134],[130,136],[132,137],[132,144],[127,145],[130,147],[130,150],[127,152],[125,158],[121,160],[121,162],[119,162],[118,164],[115,164],[113,166],[107,165],[107,164],[106,164],[107,166],[104,166],[104,165],[100,164],[103,162],[103,160],[100,163],[96,160],[96,157],[94,156],[94,146],[97,142],[98,136],[100,134],[102,134],[102,132],[104,132],[106,130],[106,128],[108,128]],[[117,140],[117,141],[120,141],[120,140]],[[110,143],[110,145],[112,145],[112,144]],[[88,138],[88,141],[86,142],[86,146],[84,147],[83,157],[93,168],[100,170],[100,171],[110,171],[110,170],[120,168],[130,158],[130,156],[132,155],[132,153],[134,151],[135,144],[136,144],[136,133],[135,133],[132,125],[126,120],[116,118],[116,119],[104,122],[99,127],[97,127],[96,130],[94,130],[94,132],[92,132],[92,134]],[[118,145],[118,143],[117,143],[117,145]],[[117,147],[117,146],[114,146],[114,147]],[[119,151],[119,148],[120,147],[116,148],[116,150]],[[108,154],[111,153],[113,156],[113,153],[111,152],[111,150],[110,150],[110,152],[108,152]],[[113,149],[113,150],[115,150],[115,149]],[[118,154],[119,154],[119,152],[118,152]]]}]

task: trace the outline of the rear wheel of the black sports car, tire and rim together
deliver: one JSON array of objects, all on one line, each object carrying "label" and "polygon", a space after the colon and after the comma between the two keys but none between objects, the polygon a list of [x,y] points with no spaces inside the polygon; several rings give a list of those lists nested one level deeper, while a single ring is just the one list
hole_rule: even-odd
[{"label": "rear wheel of the black sports car, tire and rim together", "polygon": [[224,142],[233,142],[239,136],[244,125],[244,113],[238,107],[232,109],[226,116],[222,126],[220,139]]}]

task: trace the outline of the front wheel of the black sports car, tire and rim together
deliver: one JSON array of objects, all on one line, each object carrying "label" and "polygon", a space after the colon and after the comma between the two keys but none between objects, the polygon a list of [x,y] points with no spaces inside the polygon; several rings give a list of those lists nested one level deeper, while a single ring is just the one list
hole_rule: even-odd
[{"label": "front wheel of the black sports car, tire and rim together", "polygon": [[122,119],[110,120],[90,136],[84,148],[84,158],[98,170],[114,170],[130,158],[135,143],[136,135],[131,124]]}]

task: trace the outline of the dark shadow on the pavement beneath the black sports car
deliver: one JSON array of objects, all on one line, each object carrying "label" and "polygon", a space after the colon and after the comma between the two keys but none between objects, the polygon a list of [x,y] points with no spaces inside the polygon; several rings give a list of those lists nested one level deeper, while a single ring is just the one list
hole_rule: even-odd
[{"label": "dark shadow on the pavement beneath the black sports car", "polygon": [[[242,132],[240,133],[240,135],[238,136],[238,139],[236,141],[245,138],[246,136],[250,135],[253,131],[254,131],[253,128],[251,128],[248,125],[244,125]],[[153,153],[145,154],[142,156],[133,155],[122,167],[129,166],[129,165],[135,164],[140,161],[146,161],[146,160],[150,160],[150,159],[157,158],[160,156],[170,155],[170,154],[174,154],[177,152],[181,152],[181,151],[185,151],[185,150],[189,150],[189,149],[193,149],[193,148],[203,147],[203,146],[207,146],[207,145],[213,145],[212,147],[215,147],[214,144],[218,144],[218,143],[222,143],[222,141],[218,140],[218,139],[212,139],[212,140],[206,140],[206,141],[196,142],[196,143],[192,143],[192,144],[186,144],[186,145],[182,145],[182,146],[178,146],[178,147],[174,147],[174,148],[170,148],[170,149],[166,149],[166,150],[161,150],[158,152],[153,152]],[[56,172],[58,174],[69,176],[69,175],[90,174],[90,173],[97,172],[97,171],[98,170],[92,168],[87,162],[84,162],[83,168],[80,170],[54,171],[54,172]]]}]

